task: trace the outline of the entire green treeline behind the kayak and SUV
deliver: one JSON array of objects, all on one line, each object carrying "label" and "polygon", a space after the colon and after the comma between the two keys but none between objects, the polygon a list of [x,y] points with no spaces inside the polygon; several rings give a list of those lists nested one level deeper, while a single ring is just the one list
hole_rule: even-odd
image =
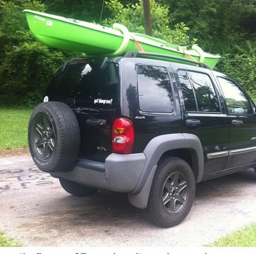
[{"label": "entire green treeline behind the kayak and SUV", "polygon": [[[58,67],[76,57],[38,43],[23,9],[99,22],[102,3],[0,0],[0,96],[16,94],[21,102],[36,103]],[[154,37],[177,44],[192,44],[196,37],[204,51],[221,55],[215,69],[235,77],[256,99],[255,0],[150,0],[150,5]],[[105,26],[122,23],[145,33],[142,0],[110,0],[105,7]]]}]

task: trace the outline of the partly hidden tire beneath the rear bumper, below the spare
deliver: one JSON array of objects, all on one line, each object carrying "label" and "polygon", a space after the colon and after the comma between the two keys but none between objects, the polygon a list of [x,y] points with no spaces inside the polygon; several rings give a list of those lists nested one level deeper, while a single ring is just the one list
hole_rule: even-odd
[{"label": "partly hidden tire beneath the rear bumper, below the spare", "polygon": [[62,177],[59,178],[59,181],[61,183],[62,188],[64,188],[65,191],[76,197],[87,197],[95,194],[98,191],[98,189],[89,188],[87,186],[82,185],[81,183],[76,183]]}]

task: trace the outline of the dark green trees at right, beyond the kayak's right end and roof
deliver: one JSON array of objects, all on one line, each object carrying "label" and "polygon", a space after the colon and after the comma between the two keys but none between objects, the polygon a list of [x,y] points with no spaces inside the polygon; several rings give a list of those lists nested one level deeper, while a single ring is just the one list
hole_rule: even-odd
[{"label": "dark green trees at right, beyond the kayak's right end and roof", "polygon": [[170,20],[185,22],[188,35],[213,54],[218,71],[233,76],[256,99],[255,0],[158,0],[170,8]]}]

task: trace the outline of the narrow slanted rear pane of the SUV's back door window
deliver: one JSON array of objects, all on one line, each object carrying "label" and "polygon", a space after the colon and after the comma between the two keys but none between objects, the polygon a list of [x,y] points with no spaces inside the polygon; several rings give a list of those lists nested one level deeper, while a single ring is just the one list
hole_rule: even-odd
[{"label": "narrow slanted rear pane of the SUV's back door window", "polygon": [[183,94],[183,100],[184,100],[186,111],[198,111],[196,102],[195,102],[195,95],[194,95],[191,83],[189,81],[189,76],[184,70],[178,70],[178,76],[180,80],[180,85],[181,85],[181,90]]}]

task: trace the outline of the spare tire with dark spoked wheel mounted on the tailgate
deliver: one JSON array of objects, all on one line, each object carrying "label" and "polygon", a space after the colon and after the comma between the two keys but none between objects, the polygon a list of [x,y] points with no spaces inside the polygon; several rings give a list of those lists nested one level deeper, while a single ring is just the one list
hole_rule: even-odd
[{"label": "spare tire with dark spoked wheel mounted on the tailgate", "polygon": [[44,172],[73,169],[80,148],[80,129],[65,103],[40,103],[32,112],[28,129],[30,154]]}]

